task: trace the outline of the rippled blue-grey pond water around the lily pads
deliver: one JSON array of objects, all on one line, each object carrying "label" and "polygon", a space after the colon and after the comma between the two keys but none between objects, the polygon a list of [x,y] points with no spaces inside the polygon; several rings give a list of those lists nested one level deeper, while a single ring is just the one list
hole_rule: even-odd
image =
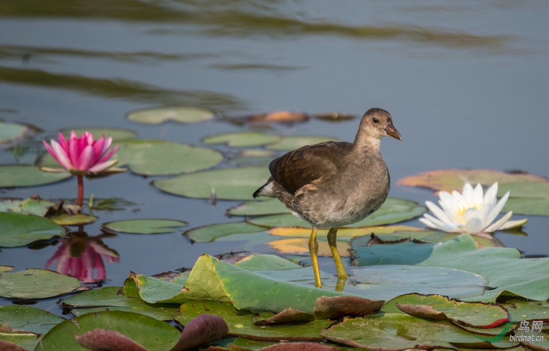
[{"label": "rippled blue-grey pond water around the lily pads", "polygon": [[[525,170],[549,176],[549,4],[466,1],[161,1],[0,4],[0,119],[42,129],[20,163],[33,163],[41,140],[67,127],[121,127],[140,138],[202,145],[205,135],[250,130],[217,119],[199,124],[143,125],[136,109],[187,105],[219,116],[292,110],[361,116],[371,107],[393,115],[403,141],[382,142],[390,196],[434,200],[428,190],[396,186],[401,177],[444,168]],[[352,141],[358,119],[312,119],[271,125],[283,135]],[[227,148],[217,147],[226,152]],[[177,160],[173,160],[177,162]],[[14,163],[12,149],[0,162]],[[220,166],[226,166],[222,164]],[[85,227],[100,235],[107,221],[165,218],[186,229],[226,222],[240,203],[163,193],[126,172],[85,180],[85,197],[124,198],[121,211],[96,211]],[[2,197],[74,198],[76,178],[3,189]],[[250,194],[251,199],[251,194]],[[514,215],[513,219],[524,216]],[[416,220],[406,225],[423,227]],[[549,219],[529,216],[528,236],[497,233],[528,257],[549,253]],[[191,268],[202,253],[249,250],[247,242],[192,244],[181,232],[121,234],[104,239],[120,254],[105,263],[104,285],[130,271],[152,275]],[[3,248],[0,264],[44,268],[57,248]],[[273,253],[267,246],[257,252]],[[326,261],[324,261],[326,260]],[[330,258],[324,258],[330,269]],[[37,307],[59,314],[55,299]],[[0,304],[12,303],[0,299]]]}]

